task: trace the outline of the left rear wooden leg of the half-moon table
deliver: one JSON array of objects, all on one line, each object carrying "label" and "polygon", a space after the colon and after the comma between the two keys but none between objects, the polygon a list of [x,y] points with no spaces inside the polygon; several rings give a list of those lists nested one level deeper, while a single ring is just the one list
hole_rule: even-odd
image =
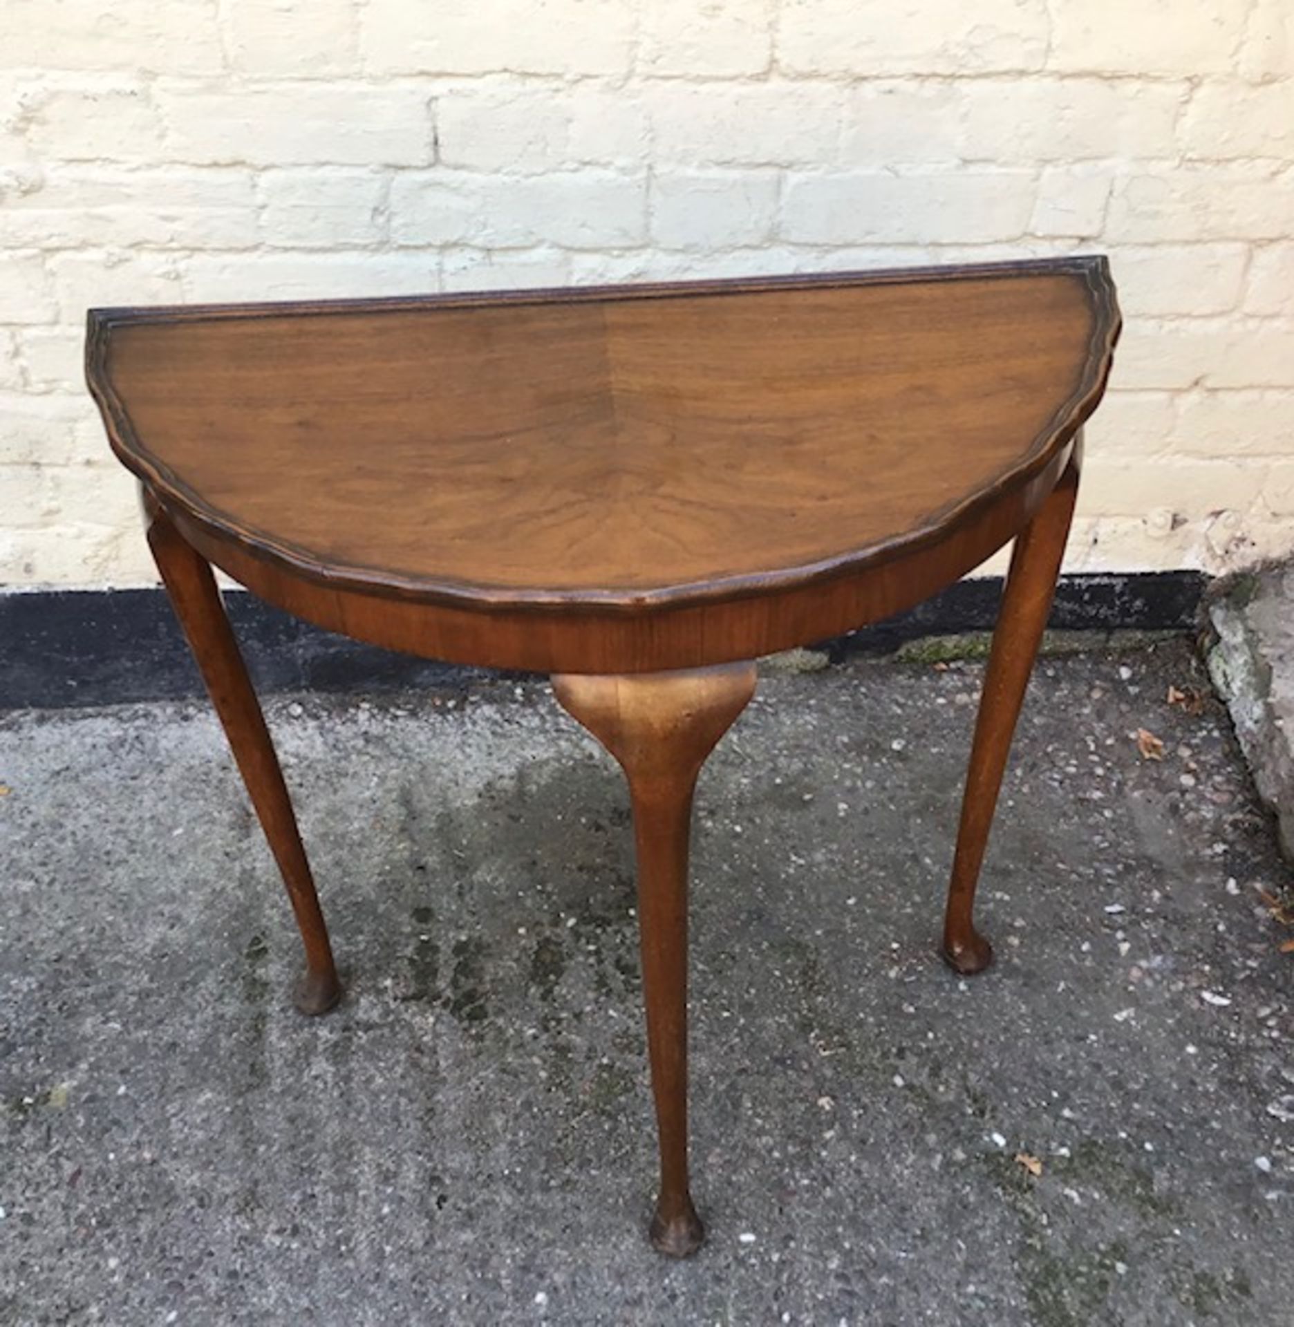
[{"label": "left rear wooden leg of the half-moon table", "polygon": [[211,567],[184,541],[165,512],[149,503],[146,508],[149,547],[279,863],[301,932],[305,977],[296,993],[296,1007],[303,1014],[324,1014],[341,998],[341,983],[269,730],[226,617]]}]

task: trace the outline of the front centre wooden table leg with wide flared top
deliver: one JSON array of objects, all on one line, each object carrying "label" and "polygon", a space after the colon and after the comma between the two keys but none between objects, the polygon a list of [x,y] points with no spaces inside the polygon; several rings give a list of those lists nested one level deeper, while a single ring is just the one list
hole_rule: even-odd
[{"label": "front centre wooden table leg with wide flared top", "polygon": [[661,1147],[652,1218],[660,1253],[686,1257],[705,1230],[687,1188],[687,845],[706,756],[755,690],[755,665],[625,677],[560,674],[561,705],[620,762],[638,864],[648,1054]]}]

